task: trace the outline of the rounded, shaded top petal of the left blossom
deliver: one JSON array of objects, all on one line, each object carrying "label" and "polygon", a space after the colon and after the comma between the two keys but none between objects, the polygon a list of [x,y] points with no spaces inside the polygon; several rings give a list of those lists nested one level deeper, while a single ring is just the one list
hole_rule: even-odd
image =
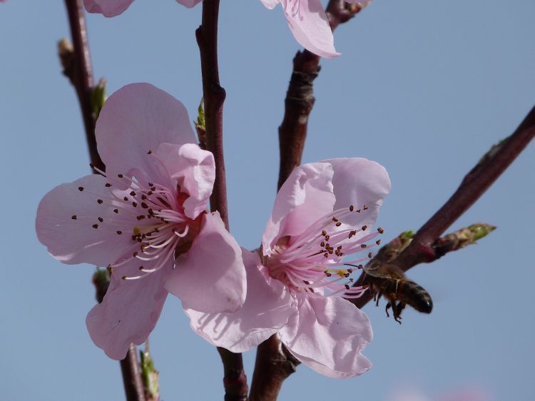
[{"label": "rounded, shaded top petal of the left blossom", "polygon": [[98,153],[112,173],[151,171],[148,151],[161,143],[196,143],[188,111],[149,83],[131,83],[113,93],[96,122]]}]

